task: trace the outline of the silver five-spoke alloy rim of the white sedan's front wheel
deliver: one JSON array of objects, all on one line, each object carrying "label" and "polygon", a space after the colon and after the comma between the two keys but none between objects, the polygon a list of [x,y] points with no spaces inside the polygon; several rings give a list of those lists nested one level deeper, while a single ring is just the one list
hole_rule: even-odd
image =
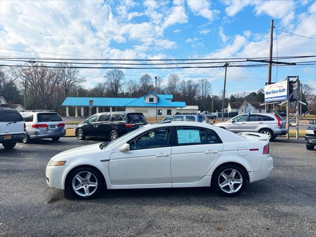
[{"label": "silver five-spoke alloy rim of the white sedan's front wheel", "polygon": [[72,186],[74,192],[79,196],[89,197],[97,190],[98,180],[91,172],[81,171],[73,178]]}]

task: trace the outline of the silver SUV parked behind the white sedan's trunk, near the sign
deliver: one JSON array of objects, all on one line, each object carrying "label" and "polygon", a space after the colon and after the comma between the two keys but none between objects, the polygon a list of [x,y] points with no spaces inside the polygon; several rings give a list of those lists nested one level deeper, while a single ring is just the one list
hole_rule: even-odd
[{"label": "silver SUV parked behind the white sedan's trunk, near the sign", "polygon": [[286,135],[285,120],[277,114],[247,114],[237,115],[226,121],[215,123],[215,126],[232,132],[260,132],[269,136],[270,141],[276,136]]}]

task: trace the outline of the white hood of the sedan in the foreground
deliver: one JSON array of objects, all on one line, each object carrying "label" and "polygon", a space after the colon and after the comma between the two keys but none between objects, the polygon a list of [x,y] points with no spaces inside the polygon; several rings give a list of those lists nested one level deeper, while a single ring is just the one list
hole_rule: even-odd
[{"label": "white hood of the sedan in the foreground", "polygon": [[82,146],[78,148],[73,148],[64,152],[61,152],[55,155],[51,160],[68,160],[68,159],[76,159],[76,158],[98,158],[99,154],[102,153],[104,156],[108,152],[112,153],[113,150],[109,149],[100,149],[100,143],[92,144],[88,146]]}]

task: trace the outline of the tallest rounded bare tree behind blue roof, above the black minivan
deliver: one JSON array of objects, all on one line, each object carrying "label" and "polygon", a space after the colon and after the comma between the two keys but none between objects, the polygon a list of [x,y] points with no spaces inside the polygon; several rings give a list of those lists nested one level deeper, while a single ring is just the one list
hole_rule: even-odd
[{"label": "tallest rounded bare tree behind blue roof, above the black minivan", "polygon": [[108,71],[104,78],[106,79],[110,95],[113,97],[118,97],[118,93],[121,90],[124,80],[123,71],[118,69]]}]

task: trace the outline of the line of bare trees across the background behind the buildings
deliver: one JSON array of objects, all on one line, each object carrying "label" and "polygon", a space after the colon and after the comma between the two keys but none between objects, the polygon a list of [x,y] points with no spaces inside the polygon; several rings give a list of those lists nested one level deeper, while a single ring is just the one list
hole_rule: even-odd
[{"label": "line of bare trees across the background behind the buildings", "polygon": [[[68,96],[137,98],[151,91],[157,91],[158,94],[172,94],[173,101],[185,101],[188,106],[197,105],[200,111],[211,111],[212,107],[213,112],[220,112],[222,109],[223,91],[213,95],[211,83],[204,78],[198,81],[181,80],[177,74],[171,74],[167,78],[157,77],[156,83],[156,79],[149,74],[143,74],[138,79],[127,80],[122,70],[114,69],[105,73],[103,82],[97,83],[92,88],[85,88],[82,83],[86,79],[80,76],[78,69],[71,68],[73,66],[71,64],[59,64],[60,67],[57,68],[39,66],[46,65],[26,63],[20,67],[0,67],[0,94],[8,103],[24,106],[26,93],[27,109],[51,109],[63,113],[64,108],[61,104]],[[311,101],[313,104],[311,87],[303,85],[303,88],[303,101]],[[234,93],[225,98],[225,108],[229,101],[244,102],[244,100],[263,102],[264,90]],[[312,107],[313,110],[315,105]]]}]

